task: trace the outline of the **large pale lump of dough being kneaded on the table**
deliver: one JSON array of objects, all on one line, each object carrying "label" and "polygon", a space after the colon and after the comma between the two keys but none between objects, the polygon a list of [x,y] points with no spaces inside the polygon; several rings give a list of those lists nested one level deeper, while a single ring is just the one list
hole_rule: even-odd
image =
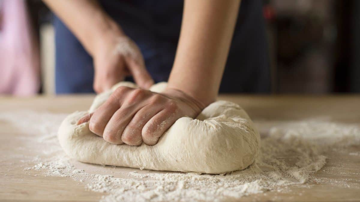
[{"label": "large pale lump of dough being kneaded on the table", "polygon": [[[213,174],[245,169],[258,156],[260,136],[254,124],[239,105],[228,101],[212,103],[196,119],[178,119],[155,146],[111,144],[90,132],[88,123],[76,125],[118,86],[136,87],[121,82],[96,96],[89,111],[77,111],[63,121],[58,136],[67,155],[93,164]],[[150,90],[165,87],[158,83]]]}]

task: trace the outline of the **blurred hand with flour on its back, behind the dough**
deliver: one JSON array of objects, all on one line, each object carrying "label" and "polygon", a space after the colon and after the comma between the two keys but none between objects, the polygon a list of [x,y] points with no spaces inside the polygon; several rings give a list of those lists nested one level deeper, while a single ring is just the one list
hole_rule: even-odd
[{"label": "blurred hand with flour on its back, behind the dough", "polygon": [[95,92],[110,89],[129,75],[141,88],[148,89],[154,84],[139,47],[122,33],[105,33],[93,52]]}]

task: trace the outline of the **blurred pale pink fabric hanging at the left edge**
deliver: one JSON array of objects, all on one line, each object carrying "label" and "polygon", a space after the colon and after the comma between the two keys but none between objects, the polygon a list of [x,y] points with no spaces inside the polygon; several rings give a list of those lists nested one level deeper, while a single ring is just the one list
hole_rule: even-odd
[{"label": "blurred pale pink fabric hanging at the left edge", "polygon": [[0,94],[39,91],[39,49],[24,0],[0,0]]}]

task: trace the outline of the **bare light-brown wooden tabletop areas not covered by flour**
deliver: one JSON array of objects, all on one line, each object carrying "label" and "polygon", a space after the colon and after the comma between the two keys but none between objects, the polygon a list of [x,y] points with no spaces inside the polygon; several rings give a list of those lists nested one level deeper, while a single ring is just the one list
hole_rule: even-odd
[{"label": "bare light-brown wooden tabletop areas not covered by flour", "polygon": [[[93,95],[73,95],[58,97],[0,97],[0,111],[33,110],[51,113],[71,113],[87,110]],[[256,122],[257,120],[300,120],[329,116],[343,123],[360,123],[360,96],[234,96],[221,95],[219,99],[240,104]],[[359,124],[360,125],[360,124]],[[34,176],[39,171],[24,172],[28,162],[12,162],[6,156],[14,153],[34,155],[17,150],[24,141],[13,141],[24,132],[10,129],[0,121],[0,199],[13,201],[98,201],[101,193],[89,192],[83,184],[69,178]],[[351,148],[360,151],[360,147]],[[41,154],[36,154],[40,155]],[[291,192],[267,192],[243,197],[241,200],[262,201],[360,201],[360,158],[341,153],[328,153],[327,164],[315,176],[326,177],[332,182],[351,182],[350,187],[334,186],[333,183],[311,184],[311,188],[291,187]],[[82,166],[90,166],[82,164]],[[131,169],[130,169],[131,170]],[[347,172],[349,174],[344,174]]]}]

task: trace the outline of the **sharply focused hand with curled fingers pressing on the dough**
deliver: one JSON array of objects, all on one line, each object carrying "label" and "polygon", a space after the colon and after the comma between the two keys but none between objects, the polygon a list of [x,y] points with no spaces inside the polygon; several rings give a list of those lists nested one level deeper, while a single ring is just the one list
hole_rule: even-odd
[{"label": "sharply focused hand with curled fingers pressing on the dough", "polygon": [[154,93],[121,86],[93,114],[82,117],[77,124],[90,120],[91,132],[113,144],[154,145],[177,119],[195,118],[204,107],[176,89]]}]

